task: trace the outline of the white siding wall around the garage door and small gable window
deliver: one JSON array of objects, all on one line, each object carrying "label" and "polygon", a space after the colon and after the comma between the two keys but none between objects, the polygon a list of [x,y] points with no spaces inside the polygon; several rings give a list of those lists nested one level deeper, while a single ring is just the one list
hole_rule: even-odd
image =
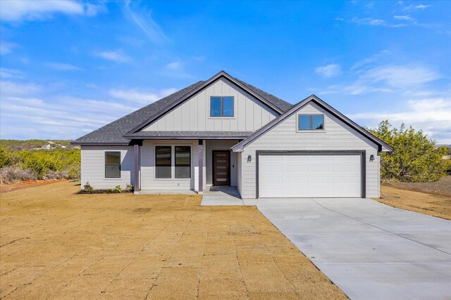
[{"label": "white siding wall around the garage door and small gable window", "polygon": [[[296,129],[299,113],[324,114],[324,130],[298,132]],[[366,197],[380,195],[378,145],[315,103],[302,107],[245,147],[240,158],[242,198],[256,197],[256,150],[365,150]],[[247,162],[248,155],[252,156],[252,162]],[[371,155],[374,155],[373,162],[369,161]]]}]

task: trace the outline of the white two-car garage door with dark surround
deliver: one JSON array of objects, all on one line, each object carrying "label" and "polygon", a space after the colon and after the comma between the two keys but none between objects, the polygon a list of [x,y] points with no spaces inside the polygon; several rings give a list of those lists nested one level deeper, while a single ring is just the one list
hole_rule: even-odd
[{"label": "white two-car garage door with dark surround", "polygon": [[259,197],[362,197],[360,155],[260,155]]}]

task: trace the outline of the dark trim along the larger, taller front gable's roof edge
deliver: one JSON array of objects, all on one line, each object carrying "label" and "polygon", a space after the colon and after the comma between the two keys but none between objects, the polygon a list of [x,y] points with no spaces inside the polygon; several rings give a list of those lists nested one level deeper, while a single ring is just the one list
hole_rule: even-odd
[{"label": "dark trim along the larger, taller front gable's roof edge", "polygon": [[261,97],[258,93],[254,92],[252,89],[249,89],[249,87],[246,86],[245,84],[243,84],[242,81],[238,81],[237,79],[231,77],[226,72],[221,71],[218,74],[214,75],[214,77],[211,77],[207,81],[204,81],[204,83],[200,84],[199,86],[197,86],[192,91],[189,91],[188,93],[186,93],[184,96],[182,96],[181,98],[179,98],[175,102],[171,103],[171,105],[168,105],[166,108],[164,108],[163,110],[160,110],[159,112],[157,112],[152,117],[149,117],[149,119],[145,120],[144,122],[142,122],[138,126],[135,126],[135,128],[133,128],[132,130],[130,130],[127,133],[125,133],[125,136],[130,136],[133,133],[136,133],[137,131],[140,131],[140,130],[144,129],[144,127],[149,126],[150,124],[152,124],[153,122],[158,120],[160,117],[163,117],[164,115],[166,115],[166,113],[168,113],[171,110],[175,109],[175,107],[178,107],[178,105],[180,105],[183,102],[185,102],[186,100],[190,99],[196,93],[199,93],[199,91],[202,91],[202,90],[206,89],[207,87],[209,87],[211,84],[214,84],[214,82],[218,81],[221,78],[228,79],[230,82],[235,84],[235,86],[238,86],[240,89],[242,89],[243,91],[249,93],[254,98],[257,98],[257,100],[259,100],[261,103],[264,103],[264,105],[266,105],[269,108],[271,108],[271,110],[274,110],[275,112],[278,112],[278,114],[280,114],[280,115],[283,114],[283,110],[282,109],[280,109],[279,107],[277,107],[273,103],[269,102],[265,98]]}]

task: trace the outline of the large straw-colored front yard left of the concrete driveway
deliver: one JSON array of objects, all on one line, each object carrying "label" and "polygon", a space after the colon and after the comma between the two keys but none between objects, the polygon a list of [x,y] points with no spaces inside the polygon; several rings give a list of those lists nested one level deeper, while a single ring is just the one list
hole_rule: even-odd
[{"label": "large straw-colored front yard left of the concrete driveway", "polygon": [[0,298],[346,299],[256,207],[79,188],[0,195]]}]

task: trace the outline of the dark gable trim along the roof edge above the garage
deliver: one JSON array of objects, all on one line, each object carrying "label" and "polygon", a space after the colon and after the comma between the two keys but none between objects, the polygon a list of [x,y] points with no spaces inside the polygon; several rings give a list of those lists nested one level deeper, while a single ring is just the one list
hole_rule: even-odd
[{"label": "dark gable trim along the roof edge above the garage", "polygon": [[376,143],[376,145],[378,145],[378,152],[393,150],[393,148],[391,148],[389,145],[387,145],[380,139],[376,138],[376,136],[373,136],[371,133],[369,133],[368,131],[363,129],[362,126],[359,126],[358,124],[353,122],[351,119],[349,119],[345,115],[342,115],[341,112],[338,112],[338,110],[335,110],[335,108],[331,107],[330,105],[325,103],[320,98],[316,97],[315,95],[311,95],[311,96],[305,98],[304,100],[300,101],[299,103],[297,103],[297,105],[293,106],[290,110],[283,113],[283,115],[280,115],[276,119],[273,119],[271,122],[266,124],[266,126],[263,126],[263,127],[261,127],[261,129],[255,131],[255,133],[252,134],[252,136],[249,136],[249,138],[246,138],[245,140],[241,141],[240,143],[237,143],[237,145],[233,146],[233,148],[232,148],[233,152],[242,152],[247,145],[249,145],[253,141],[257,140],[257,138],[264,135],[264,133],[268,132],[273,127],[280,124],[280,122],[283,122],[284,119],[287,119],[291,115],[295,114],[295,112],[302,109],[302,107],[304,107],[305,105],[307,105],[310,102],[316,103],[317,105],[322,107],[324,110],[329,112],[331,115],[333,115],[334,117],[337,117],[342,122],[344,122],[345,124],[350,126],[352,129],[354,129],[357,132],[359,132],[360,134],[362,134],[362,136],[365,136],[370,141],[373,141],[373,143]]}]

